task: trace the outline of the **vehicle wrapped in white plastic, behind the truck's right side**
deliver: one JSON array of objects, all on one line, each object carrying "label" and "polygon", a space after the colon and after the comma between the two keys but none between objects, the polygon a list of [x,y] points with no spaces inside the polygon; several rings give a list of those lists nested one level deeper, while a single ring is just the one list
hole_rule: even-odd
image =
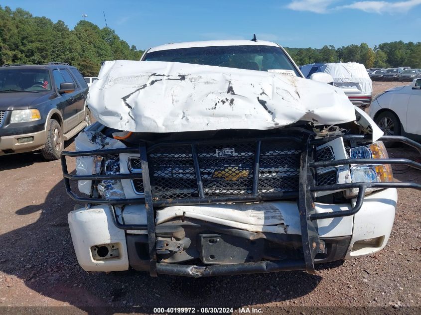
[{"label": "vehicle wrapped in white plastic, behind the truck's right side", "polygon": [[301,67],[309,79],[313,73],[324,72],[332,76],[333,85],[341,88],[352,104],[361,108],[370,106],[373,87],[364,65],[355,62],[314,63]]}]

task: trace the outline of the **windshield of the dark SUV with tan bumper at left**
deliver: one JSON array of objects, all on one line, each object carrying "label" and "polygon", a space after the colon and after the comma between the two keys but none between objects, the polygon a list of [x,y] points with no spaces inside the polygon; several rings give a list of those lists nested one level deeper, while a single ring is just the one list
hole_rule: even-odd
[{"label": "windshield of the dark SUV with tan bumper at left", "polygon": [[50,91],[51,80],[46,69],[0,69],[1,91]]}]

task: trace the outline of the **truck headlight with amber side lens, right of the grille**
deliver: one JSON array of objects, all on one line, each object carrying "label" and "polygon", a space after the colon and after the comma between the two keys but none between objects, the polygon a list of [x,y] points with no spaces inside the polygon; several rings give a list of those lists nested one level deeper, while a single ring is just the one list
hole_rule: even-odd
[{"label": "truck headlight with amber side lens, right of the grille", "polygon": [[388,153],[382,141],[352,148],[351,159],[373,159],[370,165],[351,165],[351,181],[353,183],[391,183],[393,182],[390,164],[376,164],[375,159],[388,159]]}]

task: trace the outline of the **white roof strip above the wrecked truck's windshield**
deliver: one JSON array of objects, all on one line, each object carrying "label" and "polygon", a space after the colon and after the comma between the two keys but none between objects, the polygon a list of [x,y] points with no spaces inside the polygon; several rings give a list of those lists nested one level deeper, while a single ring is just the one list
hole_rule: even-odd
[{"label": "white roof strip above the wrecked truck's windshield", "polygon": [[168,49],[179,49],[179,48],[190,48],[190,47],[212,47],[212,46],[275,46],[280,47],[274,42],[269,42],[266,40],[204,40],[204,41],[195,41],[195,42],[183,42],[183,43],[172,43],[164,44],[156,47],[149,48],[146,52],[161,51]]}]

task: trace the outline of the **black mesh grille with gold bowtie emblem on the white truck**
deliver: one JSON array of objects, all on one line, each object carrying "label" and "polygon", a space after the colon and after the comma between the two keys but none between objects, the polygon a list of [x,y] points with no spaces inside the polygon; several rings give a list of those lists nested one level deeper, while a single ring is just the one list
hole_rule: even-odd
[{"label": "black mesh grille with gold bowtie emblem on the white truck", "polygon": [[[256,142],[196,146],[205,197],[252,194]],[[297,192],[301,144],[289,141],[262,142],[258,170],[258,193]],[[154,200],[199,197],[190,145],[160,146],[148,153]],[[131,158],[139,168],[140,158]],[[143,183],[133,180],[143,192]]]}]

